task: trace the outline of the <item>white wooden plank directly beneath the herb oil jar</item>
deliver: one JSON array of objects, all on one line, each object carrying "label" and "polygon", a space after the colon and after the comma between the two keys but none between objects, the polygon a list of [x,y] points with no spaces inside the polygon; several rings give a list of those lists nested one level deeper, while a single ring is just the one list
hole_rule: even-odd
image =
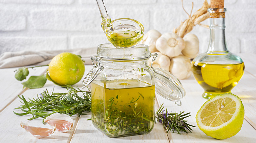
[{"label": "white wooden plank directly beneath the herb oil jar", "polygon": [[[157,110],[158,106],[155,102],[155,110]],[[135,135],[135,136],[127,136],[127,137],[119,137],[119,138],[110,138],[104,135],[102,132],[97,130],[92,124],[91,120],[87,120],[91,118],[91,113],[88,115],[82,115],[77,123],[75,133],[72,137],[71,143],[86,142],[90,143],[169,143],[168,136],[166,135],[166,131],[163,129],[162,124],[155,124],[153,130],[146,135]]]}]

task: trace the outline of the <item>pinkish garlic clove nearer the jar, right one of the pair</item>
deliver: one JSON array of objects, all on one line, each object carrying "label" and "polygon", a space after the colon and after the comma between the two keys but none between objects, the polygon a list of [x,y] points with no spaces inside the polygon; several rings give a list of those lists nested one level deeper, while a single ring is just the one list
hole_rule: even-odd
[{"label": "pinkish garlic clove nearer the jar, right one of the pair", "polygon": [[59,132],[67,132],[73,128],[73,120],[66,114],[55,113],[44,120],[51,126],[56,126]]}]

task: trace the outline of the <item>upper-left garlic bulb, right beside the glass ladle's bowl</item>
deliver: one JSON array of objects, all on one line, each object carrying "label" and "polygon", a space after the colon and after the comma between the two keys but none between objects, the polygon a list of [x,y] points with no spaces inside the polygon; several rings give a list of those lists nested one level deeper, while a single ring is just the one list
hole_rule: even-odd
[{"label": "upper-left garlic bulb, right beside the glass ladle's bowl", "polygon": [[148,45],[150,52],[156,52],[156,41],[162,34],[157,30],[149,30],[141,41],[142,44]]}]

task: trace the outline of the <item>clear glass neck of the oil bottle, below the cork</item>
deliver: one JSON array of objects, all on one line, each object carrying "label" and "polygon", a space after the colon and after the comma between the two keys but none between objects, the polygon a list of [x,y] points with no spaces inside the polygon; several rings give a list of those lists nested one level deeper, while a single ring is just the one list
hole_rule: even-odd
[{"label": "clear glass neck of the oil bottle, below the cork", "polygon": [[210,18],[210,41],[207,54],[228,54],[225,39],[225,18]]}]

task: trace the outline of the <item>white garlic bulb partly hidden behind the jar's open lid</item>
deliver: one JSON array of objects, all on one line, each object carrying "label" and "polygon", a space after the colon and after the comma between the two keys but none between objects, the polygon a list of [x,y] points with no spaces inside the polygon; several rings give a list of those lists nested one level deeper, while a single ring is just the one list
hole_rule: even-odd
[{"label": "white garlic bulb partly hidden behind the jar's open lid", "polygon": [[[153,68],[162,68],[166,71],[169,71],[171,60],[168,56],[161,54],[160,52],[156,52],[158,54],[156,60],[153,62]],[[149,65],[151,65],[151,60],[149,60]]]}]

